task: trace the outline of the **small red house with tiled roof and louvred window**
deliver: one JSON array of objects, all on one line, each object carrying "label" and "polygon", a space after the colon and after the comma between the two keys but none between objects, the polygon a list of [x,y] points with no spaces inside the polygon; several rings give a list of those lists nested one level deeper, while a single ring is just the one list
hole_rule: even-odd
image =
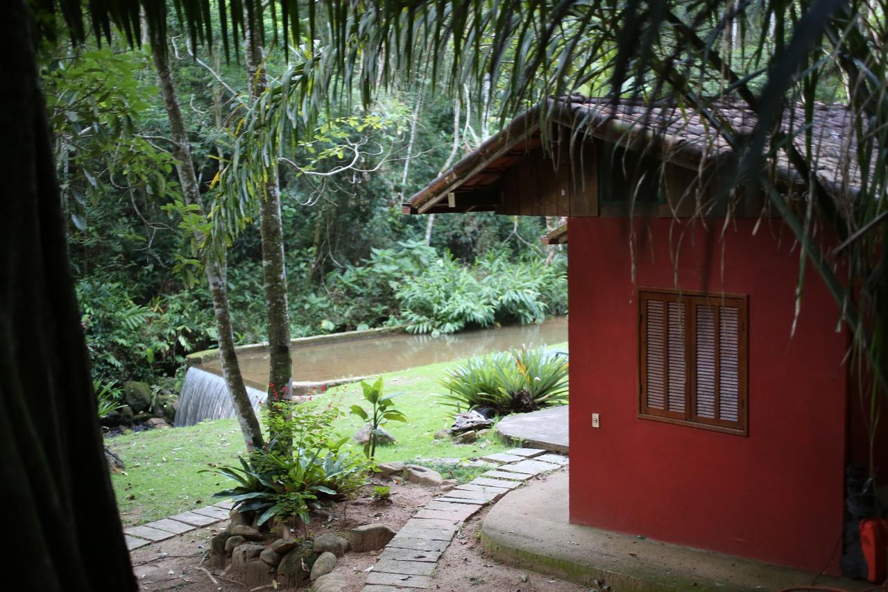
[{"label": "small red house with tiled roof and louvred window", "polygon": [[[567,218],[550,238],[569,242],[571,522],[837,573],[845,470],[868,439],[849,334],[808,264],[796,316],[796,237],[757,190],[719,190],[730,148],[676,109],[561,102],[550,151],[535,114],[405,212]],[[846,117],[815,110],[829,188],[859,182]],[[804,209],[789,167],[774,174]]]}]

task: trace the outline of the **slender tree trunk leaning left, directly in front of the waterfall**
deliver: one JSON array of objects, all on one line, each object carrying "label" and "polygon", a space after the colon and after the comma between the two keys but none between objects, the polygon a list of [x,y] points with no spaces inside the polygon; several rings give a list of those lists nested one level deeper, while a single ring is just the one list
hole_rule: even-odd
[{"label": "slender tree trunk leaning left, directly in front of the waterfall", "polygon": [[[147,30],[147,27],[146,27]],[[197,182],[197,173],[194,172],[194,160],[191,156],[191,143],[185,129],[185,121],[182,118],[182,110],[178,105],[176,87],[172,82],[170,64],[167,60],[166,47],[164,47],[153,32],[148,35],[151,42],[151,54],[155,61],[157,80],[163,95],[163,106],[166,108],[167,117],[170,120],[170,132],[172,133],[173,156],[178,161],[176,172],[178,181],[182,185],[182,195],[186,204],[201,206],[201,191]],[[201,239],[201,236],[196,238]],[[213,298],[213,315],[216,317],[216,331],[218,332],[219,353],[222,361],[222,375],[225,377],[228,394],[234,403],[237,412],[237,420],[241,424],[244,442],[248,450],[261,448],[262,428],[253,412],[250,404],[250,396],[243,384],[241,366],[238,364],[237,355],[234,352],[234,332],[231,324],[231,308],[228,306],[228,291],[226,288],[226,261],[225,254],[220,256],[222,260],[212,260],[212,255],[203,261],[207,282],[210,284],[210,293]]]}]

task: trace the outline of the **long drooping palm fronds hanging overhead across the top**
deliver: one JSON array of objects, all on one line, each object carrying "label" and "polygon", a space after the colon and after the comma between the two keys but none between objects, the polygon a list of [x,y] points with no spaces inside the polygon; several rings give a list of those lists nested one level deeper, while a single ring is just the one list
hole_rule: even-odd
[{"label": "long drooping palm fronds hanging overhead across the top", "polygon": [[[298,2],[171,0],[196,44],[214,31],[224,40],[243,30],[243,13],[264,12],[274,36],[298,50],[294,70],[269,90],[265,106],[242,127],[280,145],[281,132],[310,128],[324,109],[356,97],[369,105],[380,89],[408,87],[417,77],[453,94],[468,88],[473,104],[493,105],[501,122],[534,105],[543,120],[569,92],[668,103],[700,117],[733,148],[725,192],[745,186],[770,198],[801,245],[797,310],[803,304],[805,261],[839,302],[854,335],[855,359],[874,371],[873,392],[888,376],[881,345],[888,339],[888,4],[884,0],[444,0]],[[70,35],[83,39],[81,0],[42,0],[58,7]],[[91,28],[109,36],[112,25],[139,40],[139,8],[163,35],[163,0],[91,0]],[[227,47],[227,45],[226,45]],[[235,45],[236,49],[236,45]],[[417,76],[420,75],[420,76]],[[273,96],[274,94],[274,96]],[[818,101],[844,102],[851,141],[844,161],[860,184],[824,187],[816,174],[820,139],[813,125]],[[742,103],[756,115],[739,132],[725,105]],[[271,105],[285,117],[269,118]],[[793,141],[777,125],[801,106]],[[281,126],[280,122],[290,124]],[[297,125],[295,122],[303,124]],[[269,124],[269,122],[276,122]],[[577,129],[582,129],[580,122]],[[543,125],[543,130],[548,127]],[[265,139],[262,139],[262,137]],[[277,135],[278,139],[274,140]],[[244,153],[261,152],[256,145]],[[778,190],[778,161],[789,163],[801,188]],[[236,169],[236,163],[232,163]],[[241,194],[243,195],[243,194]],[[243,204],[237,204],[243,207]],[[237,212],[237,207],[224,208]],[[827,249],[817,220],[837,236]],[[236,224],[228,221],[234,228]],[[841,265],[840,265],[841,264]],[[841,269],[841,272],[836,271]],[[871,404],[876,405],[872,397]],[[876,407],[872,416],[877,419]]]}]

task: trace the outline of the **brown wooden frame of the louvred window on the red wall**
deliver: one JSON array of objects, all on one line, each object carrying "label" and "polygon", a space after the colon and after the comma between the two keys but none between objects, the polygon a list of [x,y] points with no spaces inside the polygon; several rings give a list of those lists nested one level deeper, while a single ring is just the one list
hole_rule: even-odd
[{"label": "brown wooden frame of the louvred window on the red wall", "polygon": [[[707,293],[694,291],[666,290],[662,288],[639,288],[636,299],[638,305],[638,418],[643,420],[662,421],[691,428],[709,429],[712,431],[733,434],[736,436],[749,436],[749,296],[734,293]],[[648,407],[646,402],[647,384],[647,332],[646,332],[646,302],[647,300],[659,300],[664,303],[680,302],[684,304],[685,314],[685,410],[675,412],[668,409],[664,403],[664,409]],[[738,342],[737,342],[737,421],[721,420],[719,418],[705,418],[696,413],[696,307],[694,303],[701,301],[718,305],[719,302],[730,303],[738,309]],[[668,311],[668,306],[665,307]],[[718,310],[718,308],[717,308]],[[664,316],[664,339],[668,339],[668,312]],[[718,326],[718,315],[715,323]],[[718,340],[717,340],[718,343]],[[718,347],[718,346],[717,346]],[[717,350],[718,352],[718,350]],[[668,375],[668,348],[664,348],[664,373],[663,382],[669,384]],[[717,353],[716,364],[719,356]],[[717,365],[718,368],[718,365]],[[718,375],[718,371],[717,371]],[[664,401],[669,398],[668,388],[664,389]],[[716,392],[716,409],[718,410],[718,389]]]}]

